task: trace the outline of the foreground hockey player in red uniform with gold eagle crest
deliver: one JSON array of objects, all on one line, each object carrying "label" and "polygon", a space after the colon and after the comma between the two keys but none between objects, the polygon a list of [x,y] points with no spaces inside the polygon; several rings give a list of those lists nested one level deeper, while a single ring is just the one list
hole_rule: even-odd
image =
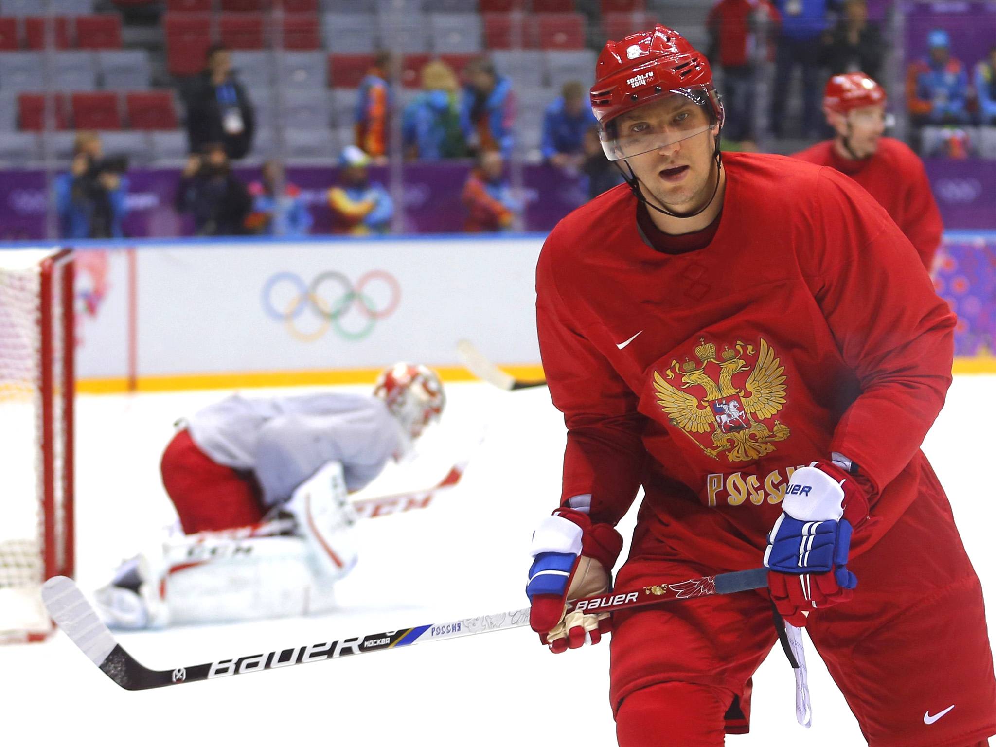
[{"label": "foreground hockey player in red uniform with gold eagle crest", "polygon": [[[835,169],[721,155],[709,64],[668,28],[609,42],[591,98],[628,183],[562,220],[537,266],[568,440],[533,536],[533,628],[555,652],[612,628],[621,745],[746,731],[772,604],[808,627],[871,744],[985,744],[981,589],[919,451],[954,317],[914,249]],[[640,484],[615,591],[764,563],[770,593],[565,617],[610,587]]]}]

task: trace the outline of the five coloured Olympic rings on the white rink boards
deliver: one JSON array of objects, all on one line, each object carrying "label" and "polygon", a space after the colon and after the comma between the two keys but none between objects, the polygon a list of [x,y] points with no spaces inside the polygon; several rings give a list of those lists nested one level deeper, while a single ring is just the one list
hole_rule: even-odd
[{"label": "five coloured Olympic rings on the white rink boards", "polygon": [[296,340],[312,343],[333,329],[344,340],[357,341],[394,313],[401,286],[384,270],[371,270],[355,286],[335,270],[316,275],[311,283],[292,272],[278,272],[263,284],[262,303],[267,316],[282,322]]}]

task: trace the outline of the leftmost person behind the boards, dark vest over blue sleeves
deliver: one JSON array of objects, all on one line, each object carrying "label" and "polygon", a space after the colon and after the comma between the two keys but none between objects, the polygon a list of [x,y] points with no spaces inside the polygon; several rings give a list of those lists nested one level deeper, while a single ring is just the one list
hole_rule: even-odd
[{"label": "leftmost person behind the boards, dark vest over blue sleeves", "polygon": [[127,162],[121,156],[105,158],[101,136],[93,131],[77,132],[73,151],[70,170],[54,182],[62,237],[124,237]]}]

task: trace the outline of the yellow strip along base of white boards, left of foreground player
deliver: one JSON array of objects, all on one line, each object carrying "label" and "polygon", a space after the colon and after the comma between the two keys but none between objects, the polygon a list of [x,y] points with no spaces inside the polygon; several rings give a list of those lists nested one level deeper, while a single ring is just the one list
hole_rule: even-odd
[{"label": "yellow strip along base of white boards, left of foreground player", "polygon": [[[433,366],[443,381],[476,381],[462,366]],[[503,366],[516,378],[543,378],[543,367]],[[263,386],[335,386],[370,383],[383,369],[337,369],[332,371],[276,371],[241,373],[185,373],[177,375],[139,376],[136,391],[187,391],[191,389],[236,389]],[[81,394],[120,394],[128,390],[127,378],[81,378],[76,382]]]}]

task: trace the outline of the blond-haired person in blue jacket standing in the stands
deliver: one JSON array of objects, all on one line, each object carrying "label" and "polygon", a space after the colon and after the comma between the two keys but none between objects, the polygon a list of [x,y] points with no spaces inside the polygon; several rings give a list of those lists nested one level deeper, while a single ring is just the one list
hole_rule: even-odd
[{"label": "blond-haired person in blue jacket standing in the stands", "polygon": [[439,160],[467,154],[460,127],[459,81],[441,60],[422,67],[422,93],[404,109],[401,138],[408,158]]}]

